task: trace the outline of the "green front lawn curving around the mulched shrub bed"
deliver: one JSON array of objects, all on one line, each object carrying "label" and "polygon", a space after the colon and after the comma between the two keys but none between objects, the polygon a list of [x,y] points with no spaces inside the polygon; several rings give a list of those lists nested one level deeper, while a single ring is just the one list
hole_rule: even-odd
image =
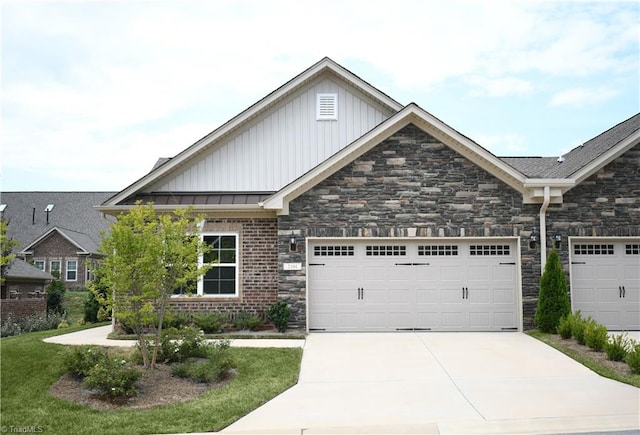
[{"label": "green front lawn curving around the mulched shrub bed", "polygon": [[130,434],[218,431],[297,382],[301,349],[231,348],[238,374],[226,386],[197,399],[150,410],[95,411],[58,399],[49,387],[63,374],[69,347],[45,337],[88,326],[0,340],[0,425],[33,426],[52,434]]}]

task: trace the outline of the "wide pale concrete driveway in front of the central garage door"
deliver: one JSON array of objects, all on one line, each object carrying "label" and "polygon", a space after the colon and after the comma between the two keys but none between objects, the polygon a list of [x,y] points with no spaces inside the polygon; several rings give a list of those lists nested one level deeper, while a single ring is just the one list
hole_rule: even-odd
[{"label": "wide pale concrete driveway in front of the central garage door", "polygon": [[223,433],[640,429],[640,390],[521,333],[311,334],[298,384]]}]

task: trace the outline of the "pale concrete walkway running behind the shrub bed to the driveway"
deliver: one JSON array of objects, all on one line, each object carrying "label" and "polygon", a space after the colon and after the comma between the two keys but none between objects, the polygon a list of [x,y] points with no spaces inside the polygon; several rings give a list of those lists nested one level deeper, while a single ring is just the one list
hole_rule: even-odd
[{"label": "pale concrete walkway running behind the shrub bed to the driveway", "polygon": [[[84,329],[69,334],[57,335],[45,338],[46,343],[67,345],[92,344],[96,346],[135,346],[136,340],[110,340],[107,336],[111,333],[111,325],[98,326],[97,328]],[[304,347],[304,339],[235,339],[230,340],[232,347]]]}]

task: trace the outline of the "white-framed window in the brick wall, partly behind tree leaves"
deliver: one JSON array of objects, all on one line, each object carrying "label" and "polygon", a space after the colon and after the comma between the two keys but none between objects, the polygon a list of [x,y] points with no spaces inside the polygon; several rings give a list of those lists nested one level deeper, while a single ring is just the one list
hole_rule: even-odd
[{"label": "white-framed window in the brick wall, partly behind tree leaves", "polygon": [[203,263],[211,269],[198,285],[203,296],[236,296],[238,294],[238,236],[237,234],[204,234],[202,239],[210,246]]}]

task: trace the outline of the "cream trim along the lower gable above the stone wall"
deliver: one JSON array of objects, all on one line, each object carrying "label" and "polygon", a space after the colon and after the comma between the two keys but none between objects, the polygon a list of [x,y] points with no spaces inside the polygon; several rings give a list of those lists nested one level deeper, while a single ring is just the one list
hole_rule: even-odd
[{"label": "cream trim along the lower gable above the stone wall", "polygon": [[346,148],[334,154],[331,158],[307,172],[304,176],[276,192],[264,201],[264,208],[276,210],[278,215],[289,214],[290,201],[365,154],[367,151],[373,149],[380,142],[409,124],[415,124],[517,191],[524,193],[523,185],[526,178],[522,173],[507,165],[471,139],[424,111],[415,103],[411,103]]}]

